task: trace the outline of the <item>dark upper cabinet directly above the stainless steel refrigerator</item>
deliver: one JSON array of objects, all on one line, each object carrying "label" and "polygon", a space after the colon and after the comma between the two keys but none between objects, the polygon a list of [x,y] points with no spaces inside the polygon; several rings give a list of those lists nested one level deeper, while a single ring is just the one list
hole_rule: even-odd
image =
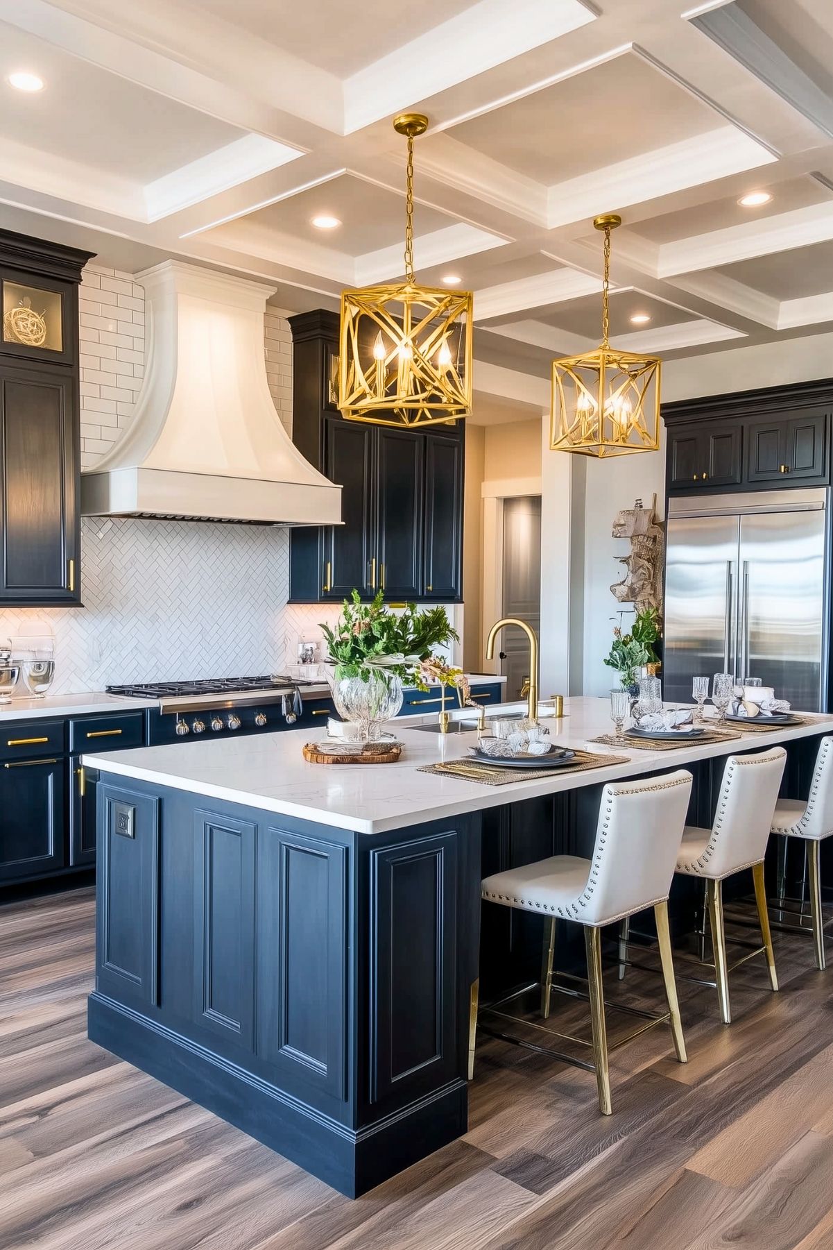
[{"label": "dark upper cabinet directly above the stainless steel refrigerator", "polygon": [[667,489],[826,486],[832,412],[833,379],[663,404]]}]

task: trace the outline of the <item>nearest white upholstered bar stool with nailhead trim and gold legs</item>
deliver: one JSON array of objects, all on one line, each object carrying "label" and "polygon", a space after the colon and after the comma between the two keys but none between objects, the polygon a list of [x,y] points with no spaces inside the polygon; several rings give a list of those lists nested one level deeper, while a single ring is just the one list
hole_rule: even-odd
[{"label": "nearest white upholstered bar stool with nailhead trim and gold legs", "polygon": [[[624,1010],[647,1018],[649,1021],[631,1036],[667,1021],[677,1059],[681,1064],[686,1062],[686,1042],[679,1021],[668,931],[668,892],[686,824],[691,789],[692,775],[684,770],[654,780],[606,785],[602,791],[592,859],[582,859],[577,855],[553,855],[537,864],[496,872],[482,882],[481,895],[487,901],[498,902],[507,908],[520,908],[523,911],[540,912],[546,918],[541,1001],[545,1018],[550,1015],[551,992],[557,989],[553,985],[552,971],[556,919],[572,920],[583,926],[593,1062],[584,1062],[546,1046],[533,1046],[532,1049],[542,1050],[576,1066],[594,1070],[598,1105],[603,1115],[609,1115],[612,1109],[602,992],[602,928],[616,924],[637,911],[643,911],[646,908],[653,908],[657,919],[668,1010],[663,1015],[654,1016],[647,1011],[626,1008]],[[485,1014],[496,1012],[497,1006],[496,1004],[485,1008]],[[617,1010],[622,1010],[622,1008],[617,1006]],[[497,1011],[496,1014],[502,1015],[503,1012]],[[517,1018],[511,1016],[510,1019]],[[528,1021],[525,1022],[528,1024]],[[543,1025],[533,1025],[533,1028],[542,1029],[553,1036],[564,1036]],[[520,1040],[502,1032],[497,1035],[508,1041]],[[627,1041],[629,1038],[622,1040]],[[521,1041],[521,1045],[528,1044]],[[470,1048],[470,1076],[472,1069],[473,1030]]]}]

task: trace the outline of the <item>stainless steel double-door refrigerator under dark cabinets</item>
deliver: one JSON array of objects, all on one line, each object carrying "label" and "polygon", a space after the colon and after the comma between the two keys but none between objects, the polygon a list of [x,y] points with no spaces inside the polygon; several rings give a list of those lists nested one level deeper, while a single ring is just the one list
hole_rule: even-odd
[{"label": "stainless steel double-door refrigerator under dark cabinets", "polygon": [[692,678],[761,678],[804,711],[827,709],[828,492],[668,501],[663,694]]}]

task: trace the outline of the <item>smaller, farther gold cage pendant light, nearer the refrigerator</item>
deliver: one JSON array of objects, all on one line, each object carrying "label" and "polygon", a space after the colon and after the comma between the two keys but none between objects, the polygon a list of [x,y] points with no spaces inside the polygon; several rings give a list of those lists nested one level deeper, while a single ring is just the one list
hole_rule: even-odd
[{"label": "smaller, farther gold cage pendant light, nearer the refrigerator", "polygon": [[659,446],[659,360],[618,351],[608,342],[611,230],[622,225],[616,212],[596,218],[604,231],[602,342],[594,351],[552,362],[553,451],[586,456],[622,456]]}]

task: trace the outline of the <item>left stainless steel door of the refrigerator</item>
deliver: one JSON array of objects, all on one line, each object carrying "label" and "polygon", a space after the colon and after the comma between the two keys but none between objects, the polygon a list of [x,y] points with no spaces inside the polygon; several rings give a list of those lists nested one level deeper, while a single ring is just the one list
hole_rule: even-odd
[{"label": "left stainless steel door of the refrigerator", "polygon": [[692,678],[734,672],[737,516],[668,521],[663,698],[692,701]]}]

